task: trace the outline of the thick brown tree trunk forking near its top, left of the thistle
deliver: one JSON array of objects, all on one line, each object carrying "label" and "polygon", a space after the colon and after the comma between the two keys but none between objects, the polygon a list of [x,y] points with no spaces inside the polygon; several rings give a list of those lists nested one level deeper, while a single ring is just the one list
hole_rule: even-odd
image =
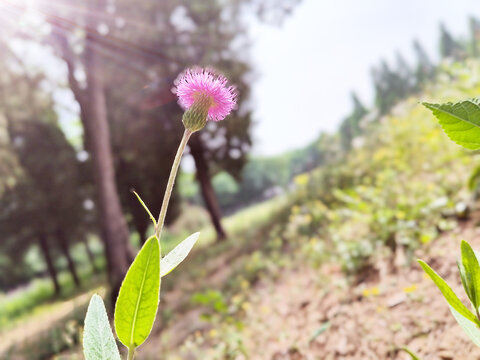
[{"label": "thick brown tree trunk forking near its top, left of the thistle", "polygon": [[[90,0],[87,4],[88,13],[91,14],[98,13],[104,5],[97,0]],[[102,45],[96,41],[101,35],[96,33],[95,30],[97,29],[97,18],[95,16],[87,16],[85,23],[87,35],[81,61],[83,61],[86,74],[86,88],[75,78],[77,54],[73,51],[65,33],[54,31],[52,40],[60,47],[62,57],[67,64],[70,88],[80,105],[81,120],[85,133],[84,141],[91,156],[94,172],[99,223],[105,246],[113,305],[134,253],[129,245],[128,227],[123,217],[115,184],[103,74],[98,53],[98,49]]]}]

